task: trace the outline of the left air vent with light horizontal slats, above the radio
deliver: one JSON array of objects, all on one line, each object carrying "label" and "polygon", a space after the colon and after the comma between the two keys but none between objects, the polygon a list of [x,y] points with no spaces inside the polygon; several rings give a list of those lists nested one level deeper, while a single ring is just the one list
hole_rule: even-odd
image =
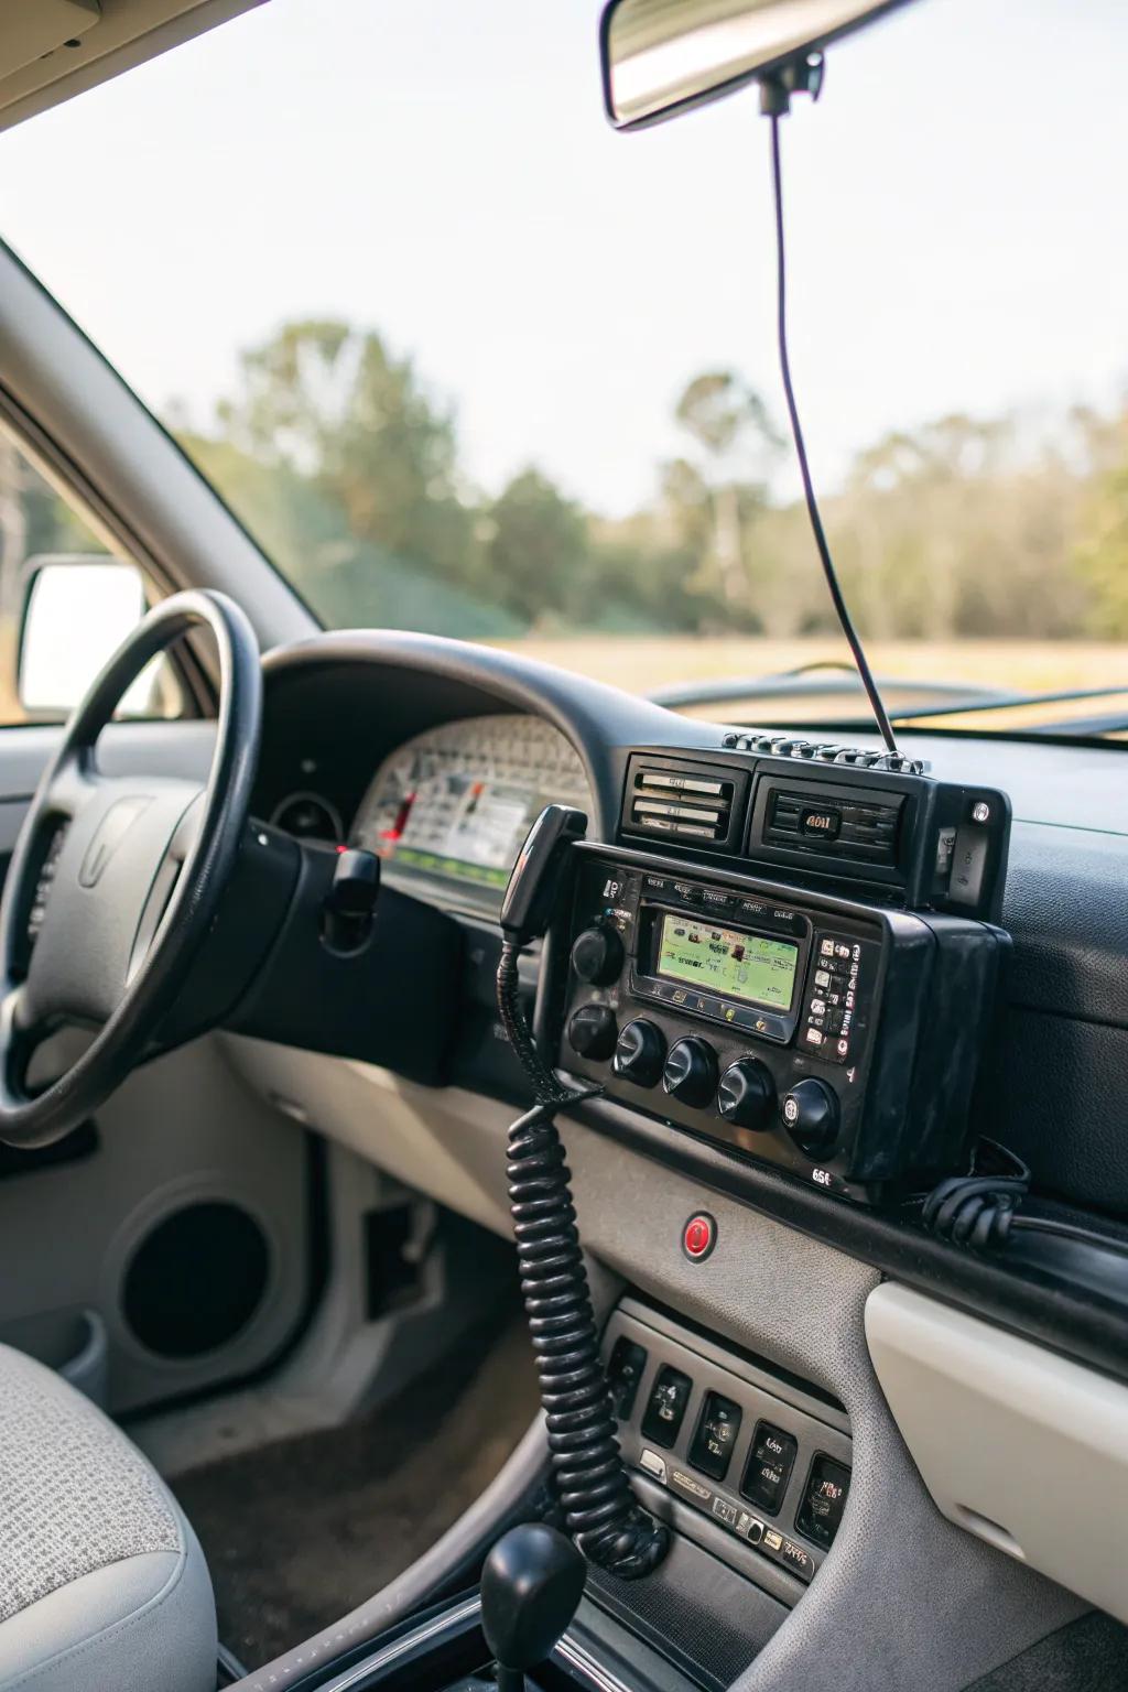
[{"label": "left air vent with light horizontal slats, above the radio", "polygon": [[631,756],[622,829],[705,851],[734,851],[747,777],[726,765]]}]

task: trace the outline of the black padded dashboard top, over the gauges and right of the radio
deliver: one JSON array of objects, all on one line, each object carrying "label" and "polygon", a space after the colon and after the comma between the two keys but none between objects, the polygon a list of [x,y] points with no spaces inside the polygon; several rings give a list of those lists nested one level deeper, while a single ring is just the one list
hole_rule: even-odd
[{"label": "black padded dashboard top, over the gauges and right of the radio", "polygon": [[[631,748],[715,751],[726,733],[514,653],[404,633],[325,634],[276,650],[266,682],[260,805],[303,785],[301,770],[316,763],[347,816],[379,761],[413,734],[512,711],[545,717],[572,741],[594,797],[589,832],[611,841]],[[1045,1191],[1128,1211],[1125,748],[944,734],[905,743],[937,777],[989,782],[1013,804],[1003,920],[1015,946],[981,1086],[984,1123],[1033,1164]]]}]

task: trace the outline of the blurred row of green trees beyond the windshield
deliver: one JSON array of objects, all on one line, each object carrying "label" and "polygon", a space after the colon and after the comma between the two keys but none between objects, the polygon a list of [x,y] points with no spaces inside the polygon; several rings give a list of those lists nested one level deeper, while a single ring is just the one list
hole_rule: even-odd
[{"label": "blurred row of green trees beyond the windshield", "polygon": [[[764,399],[707,371],[675,406],[685,450],[653,506],[609,521],[528,467],[494,499],[458,472],[455,418],[372,330],[287,323],[242,359],[189,452],[333,624],[468,638],[523,629],[834,628],[798,503],[773,503],[783,442]],[[859,452],[824,519],[873,636],[1128,634],[1128,409],[952,415]]]}]

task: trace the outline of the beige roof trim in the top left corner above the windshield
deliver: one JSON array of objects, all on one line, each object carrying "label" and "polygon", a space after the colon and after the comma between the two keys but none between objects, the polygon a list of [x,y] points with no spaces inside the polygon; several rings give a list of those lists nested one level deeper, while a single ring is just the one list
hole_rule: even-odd
[{"label": "beige roof trim in the top left corner above the windshield", "polygon": [[262,0],[5,0],[0,129],[249,12]]}]

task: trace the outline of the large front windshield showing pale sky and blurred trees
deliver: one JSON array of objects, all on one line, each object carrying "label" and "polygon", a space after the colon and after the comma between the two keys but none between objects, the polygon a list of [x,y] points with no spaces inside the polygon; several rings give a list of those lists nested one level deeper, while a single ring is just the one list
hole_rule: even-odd
[{"label": "large front windshield showing pale sky and blurred trees", "polygon": [[[0,137],[5,235],[323,623],[864,722],[756,96],[612,134],[597,14],[274,0]],[[1121,0],[927,0],[783,125],[800,409],[901,717],[1128,721],[1126,47]]]}]

